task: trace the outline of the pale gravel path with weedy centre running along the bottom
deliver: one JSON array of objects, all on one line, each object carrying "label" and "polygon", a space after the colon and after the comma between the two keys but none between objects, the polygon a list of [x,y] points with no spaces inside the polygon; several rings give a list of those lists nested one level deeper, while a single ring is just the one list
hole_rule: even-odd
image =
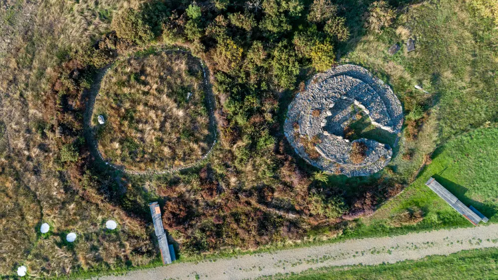
[{"label": "pale gravel path with weedy centre running along the bottom", "polygon": [[311,268],[395,263],[489,247],[498,247],[498,224],[394,237],[353,239],[274,253],[242,255],[214,262],[176,263],[99,279],[164,280],[196,279],[196,276],[198,279],[253,279],[277,273],[299,273]]}]

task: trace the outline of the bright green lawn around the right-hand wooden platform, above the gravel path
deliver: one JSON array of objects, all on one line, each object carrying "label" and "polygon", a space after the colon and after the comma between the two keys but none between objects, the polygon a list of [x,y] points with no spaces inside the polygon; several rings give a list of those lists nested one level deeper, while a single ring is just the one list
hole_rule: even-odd
[{"label": "bright green lawn around the right-hand wooden platform, above the gravel path", "polygon": [[[471,224],[425,186],[434,177],[466,205],[473,205],[491,222],[498,222],[498,128],[482,128],[450,140],[433,154],[432,162],[404,192],[371,217],[362,220],[354,235],[435,229]],[[395,228],[391,220],[406,209],[421,209],[422,222]]]}]

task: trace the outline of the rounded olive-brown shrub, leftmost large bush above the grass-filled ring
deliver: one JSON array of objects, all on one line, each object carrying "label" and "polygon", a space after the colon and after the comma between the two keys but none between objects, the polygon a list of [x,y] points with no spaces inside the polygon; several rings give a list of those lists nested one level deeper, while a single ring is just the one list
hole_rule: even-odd
[{"label": "rounded olive-brown shrub, leftmost large bush above the grass-filled ring", "polygon": [[154,38],[151,27],[144,22],[142,15],[132,8],[114,15],[111,27],[118,37],[137,44],[146,44]]}]

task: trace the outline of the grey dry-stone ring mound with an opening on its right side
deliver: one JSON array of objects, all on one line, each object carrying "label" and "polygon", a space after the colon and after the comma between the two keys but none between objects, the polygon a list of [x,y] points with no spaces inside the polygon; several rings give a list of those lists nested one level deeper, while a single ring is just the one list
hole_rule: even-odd
[{"label": "grey dry-stone ring mound with an opening on its right side", "polygon": [[291,102],[285,135],[301,157],[324,171],[371,175],[389,163],[392,150],[375,140],[343,138],[356,109],[375,127],[401,130],[403,111],[391,88],[363,67],[344,64],[315,75]]}]

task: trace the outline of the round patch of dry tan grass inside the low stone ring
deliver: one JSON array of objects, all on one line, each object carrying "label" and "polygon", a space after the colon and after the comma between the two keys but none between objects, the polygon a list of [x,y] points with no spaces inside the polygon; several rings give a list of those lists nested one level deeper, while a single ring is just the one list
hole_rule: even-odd
[{"label": "round patch of dry tan grass inside the low stone ring", "polygon": [[180,51],[115,63],[102,79],[92,115],[102,158],[137,172],[201,159],[214,140],[204,77],[200,61]]}]

